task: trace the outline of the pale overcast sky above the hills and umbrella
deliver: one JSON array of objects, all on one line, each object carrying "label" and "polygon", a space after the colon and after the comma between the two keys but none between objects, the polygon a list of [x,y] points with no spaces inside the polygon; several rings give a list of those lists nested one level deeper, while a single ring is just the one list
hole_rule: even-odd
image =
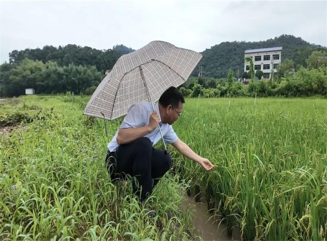
[{"label": "pale overcast sky above the hills and umbrella", "polygon": [[44,45],[137,50],[162,40],[202,52],[282,34],[327,46],[327,1],[0,1],[0,63]]}]

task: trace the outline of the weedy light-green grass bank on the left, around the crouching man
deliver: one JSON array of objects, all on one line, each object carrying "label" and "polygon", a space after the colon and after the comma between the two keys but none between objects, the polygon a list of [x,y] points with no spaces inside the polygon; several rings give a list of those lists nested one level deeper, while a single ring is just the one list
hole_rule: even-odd
[{"label": "weedy light-green grass bank on the left, around the crouching man", "polygon": [[[81,115],[87,100],[19,100],[0,107],[4,115],[24,110],[34,118],[23,120],[26,130],[0,137],[1,240],[198,239],[190,215],[181,212],[188,184],[178,176],[166,175],[148,200],[153,219],[130,182],[111,183],[102,122]],[[119,122],[108,124],[110,136]]]}]

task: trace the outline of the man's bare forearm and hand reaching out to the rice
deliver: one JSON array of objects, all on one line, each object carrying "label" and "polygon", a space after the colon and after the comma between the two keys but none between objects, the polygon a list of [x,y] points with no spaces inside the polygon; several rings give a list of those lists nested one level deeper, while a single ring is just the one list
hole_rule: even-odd
[{"label": "man's bare forearm and hand reaching out to the rice", "polygon": [[203,158],[196,154],[188,145],[186,145],[180,139],[177,139],[174,143],[172,143],[173,147],[177,149],[182,155],[191,160],[199,163],[205,170],[209,171],[214,168],[214,165],[206,158]]}]

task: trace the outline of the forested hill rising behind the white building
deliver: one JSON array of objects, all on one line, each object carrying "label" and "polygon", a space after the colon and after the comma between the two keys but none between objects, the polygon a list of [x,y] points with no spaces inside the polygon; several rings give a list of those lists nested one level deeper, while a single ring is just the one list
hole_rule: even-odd
[{"label": "forested hill rising behind the white building", "polygon": [[[292,59],[295,66],[300,64],[306,66],[305,60],[314,50],[326,50],[321,45],[311,44],[293,35],[281,35],[274,39],[259,42],[222,42],[202,52],[203,58],[198,66],[202,66],[202,75],[207,77],[226,77],[231,67],[234,73],[238,68],[242,74],[244,71],[244,51],[250,49],[261,49],[264,47],[282,46],[282,61]],[[295,67],[294,66],[294,67]],[[198,76],[199,68],[193,71],[193,76]]]}]

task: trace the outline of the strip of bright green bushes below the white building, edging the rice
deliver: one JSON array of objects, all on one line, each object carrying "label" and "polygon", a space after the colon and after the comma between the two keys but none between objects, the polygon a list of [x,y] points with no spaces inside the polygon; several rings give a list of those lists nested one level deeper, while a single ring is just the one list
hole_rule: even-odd
[{"label": "strip of bright green bushes below the white building, edging the rice", "polygon": [[[258,70],[259,71],[259,70]],[[272,80],[251,80],[248,85],[240,82],[222,82],[217,88],[202,88],[201,85],[194,83],[193,91],[180,88],[182,93],[197,98],[200,94],[204,98],[219,97],[308,97],[320,95],[325,97],[327,94],[327,69],[311,69],[300,67],[298,71],[289,72],[285,77],[281,77],[280,83]],[[190,95],[189,93],[192,92]]]}]

